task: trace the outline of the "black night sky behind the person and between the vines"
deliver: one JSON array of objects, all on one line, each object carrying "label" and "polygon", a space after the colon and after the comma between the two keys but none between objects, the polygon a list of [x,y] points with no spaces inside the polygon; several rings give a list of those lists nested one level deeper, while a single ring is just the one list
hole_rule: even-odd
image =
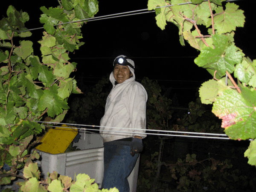
[{"label": "black night sky behind the person and between the vines", "polygon": [[[9,5],[15,9],[28,12],[30,20],[26,22],[28,29],[42,27],[39,17],[41,6],[56,7],[57,0],[9,0],[0,7],[1,17],[6,16]],[[256,58],[252,44],[256,42],[253,32],[255,20],[250,11],[249,0],[239,0],[235,3],[244,10],[246,22],[244,28],[237,28],[235,35],[236,46],[241,48],[251,59]],[[99,12],[95,17],[134,11],[147,8],[147,0],[99,0]],[[251,5],[251,4],[250,4]],[[199,55],[196,49],[186,43],[182,47],[179,43],[178,28],[168,23],[165,30],[161,30],[155,22],[155,13],[146,13],[105,20],[89,21],[82,27],[85,44],[70,54],[72,62],[78,63],[76,79],[79,84],[95,84],[102,76],[111,73],[111,64],[118,55],[127,55],[134,60],[136,79],[143,77],[158,79],[158,83],[166,88],[172,87],[172,95],[177,93],[184,103],[192,101],[196,88],[212,76],[194,64]],[[41,55],[40,41],[43,29],[33,30],[32,37],[26,38],[34,42],[34,54]],[[161,80],[161,81],[160,81]]]}]

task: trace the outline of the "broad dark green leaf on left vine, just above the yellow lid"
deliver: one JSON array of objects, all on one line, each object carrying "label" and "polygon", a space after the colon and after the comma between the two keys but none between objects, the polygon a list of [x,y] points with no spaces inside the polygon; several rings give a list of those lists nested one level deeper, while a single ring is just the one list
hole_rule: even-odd
[{"label": "broad dark green leaf on left vine, just above the yellow lid", "polygon": [[54,117],[62,113],[63,109],[68,109],[69,107],[67,102],[63,101],[58,95],[49,90],[44,90],[44,94],[38,103],[38,109],[44,111],[46,108],[48,108],[48,115]]}]

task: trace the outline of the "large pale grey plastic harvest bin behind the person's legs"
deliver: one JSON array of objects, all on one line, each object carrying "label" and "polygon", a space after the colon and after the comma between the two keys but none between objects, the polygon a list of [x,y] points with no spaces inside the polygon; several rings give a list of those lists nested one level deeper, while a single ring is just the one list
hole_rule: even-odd
[{"label": "large pale grey plastic harvest bin behind the person's legs", "polygon": [[[102,137],[89,131],[79,130],[81,135],[79,142],[73,146],[80,148],[80,151],[73,151],[62,154],[50,154],[44,151],[37,150],[41,156],[41,161],[37,161],[41,167],[41,175],[46,178],[47,172],[58,172],[60,175],[67,175],[74,180],[75,173],[85,173],[99,185],[102,185],[104,173],[104,145]],[[137,159],[136,165],[128,177],[130,192],[136,192],[137,179],[139,171],[140,156]]]}]

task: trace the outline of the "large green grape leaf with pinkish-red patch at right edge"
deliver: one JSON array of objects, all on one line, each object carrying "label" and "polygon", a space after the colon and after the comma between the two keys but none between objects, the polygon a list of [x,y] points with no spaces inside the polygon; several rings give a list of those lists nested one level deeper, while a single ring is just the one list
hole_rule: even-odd
[{"label": "large green grape leaf with pinkish-red patch at right edge", "polygon": [[227,89],[216,98],[212,113],[222,119],[221,127],[231,139],[256,137],[256,90],[239,85],[241,93]]}]

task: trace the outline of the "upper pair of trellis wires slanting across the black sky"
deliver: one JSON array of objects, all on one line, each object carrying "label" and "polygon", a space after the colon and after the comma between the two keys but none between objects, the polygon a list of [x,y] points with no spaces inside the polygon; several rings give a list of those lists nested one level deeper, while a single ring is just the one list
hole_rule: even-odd
[{"label": "upper pair of trellis wires slanting across the black sky", "polygon": [[[204,1],[207,1],[207,0],[204,0]],[[237,1],[237,0],[226,0],[226,2],[230,2],[230,1]],[[185,5],[185,4],[192,4],[192,2],[179,3],[177,5]],[[174,6],[174,5],[160,6],[160,7],[156,7],[155,9],[165,8],[165,7],[170,7],[170,6]],[[143,12],[143,11],[145,11],[145,12]],[[140,12],[140,13],[134,13],[134,12]],[[85,21],[87,22],[87,21],[103,20],[103,19],[110,19],[110,18],[116,18],[116,17],[139,15],[139,14],[151,13],[151,12],[155,12],[155,10],[148,11],[148,9],[140,9],[140,10],[135,10],[135,11],[122,12],[122,13],[116,13],[116,14],[111,14],[111,15],[103,15],[103,16],[99,16],[99,17],[87,18],[87,19],[82,19],[82,20],[77,20],[77,21],[70,21],[70,22],[66,22],[66,23],[56,24],[53,26],[59,26],[59,25],[68,24],[68,23],[77,23],[77,22],[85,22]],[[126,14],[126,15],[123,15],[123,14]],[[44,27],[39,27],[39,28],[35,28],[35,29],[44,29]],[[27,30],[20,31],[20,32],[27,32],[27,31],[32,31],[35,29],[27,29]]]}]

